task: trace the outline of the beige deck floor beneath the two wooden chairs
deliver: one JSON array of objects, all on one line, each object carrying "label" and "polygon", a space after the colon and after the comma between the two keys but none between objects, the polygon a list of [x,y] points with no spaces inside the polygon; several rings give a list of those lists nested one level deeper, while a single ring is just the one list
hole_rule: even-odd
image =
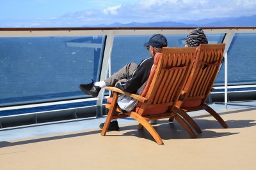
[{"label": "beige deck floor beneath the two wooden chairs", "polygon": [[177,122],[159,120],[157,145],[137,124],[100,136],[100,129],[0,143],[1,169],[256,169],[256,108],[227,110],[223,129],[209,114],[194,118],[191,139]]}]

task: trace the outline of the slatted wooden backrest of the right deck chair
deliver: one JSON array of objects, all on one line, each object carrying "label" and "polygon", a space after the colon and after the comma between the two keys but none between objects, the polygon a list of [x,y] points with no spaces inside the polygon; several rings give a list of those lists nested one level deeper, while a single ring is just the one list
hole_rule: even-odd
[{"label": "slatted wooden backrest of the right deck chair", "polygon": [[[199,46],[188,82],[184,87],[184,107],[204,104],[218,75],[223,60],[225,44]],[[189,103],[188,101],[194,101]]]}]

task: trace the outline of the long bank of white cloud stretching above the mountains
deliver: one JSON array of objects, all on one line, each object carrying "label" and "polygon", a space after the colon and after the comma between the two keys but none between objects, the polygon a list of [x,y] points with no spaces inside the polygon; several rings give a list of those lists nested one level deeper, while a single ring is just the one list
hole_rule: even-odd
[{"label": "long bank of white cloud stretching above the mountains", "polygon": [[114,22],[127,24],[248,16],[256,14],[255,8],[256,1],[248,0],[141,0],[137,4],[120,4],[102,11],[70,13],[69,17],[77,25],[112,24]]}]

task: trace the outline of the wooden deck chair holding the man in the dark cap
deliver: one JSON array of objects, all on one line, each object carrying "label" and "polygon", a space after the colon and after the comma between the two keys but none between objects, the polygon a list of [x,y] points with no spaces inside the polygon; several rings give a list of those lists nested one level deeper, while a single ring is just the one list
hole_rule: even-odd
[{"label": "wooden deck chair holding the man in the dark cap", "polygon": [[[115,87],[105,87],[113,92],[113,98],[111,104],[106,104],[109,111],[101,135],[106,135],[111,119],[132,117],[140,123],[138,129],[145,127],[158,144],[163,144],[159,134],[148,121],[174,118],[184,127],[191,138],[195,138],[195,133],[187,122],[172,111],[188,79],[191,58],[195,55],[195,51],[196,48],[192,47],[163,48],[163,52],[157,53],[154,57],[154,65],[141,95],[129,94]],[[116,104],[118,94],[126,94],[137,99],[139,102],[136,108],[129,112],[122,111]],[[116,112],[117,115],[114,114]]]}]

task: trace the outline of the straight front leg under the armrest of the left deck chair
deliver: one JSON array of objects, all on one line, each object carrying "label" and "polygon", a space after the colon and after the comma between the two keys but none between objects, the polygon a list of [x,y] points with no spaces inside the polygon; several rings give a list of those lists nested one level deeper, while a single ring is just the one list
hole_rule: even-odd
[{"label": "straight front leg under the armrest of the left deck chair", "polygon": [[118,97],[117,93],[114,92],[113,93],[113,101],[111,103],[111,108],[109,108],[109,111],[108,111],[108,117],[106,118],[106,121],[105,121],[104,126],[102,128],[102,131],[100,132],[100,134],[102,136],[105,136],[106,132],[108,131],[108,127],[109,127],[110,121],[111,121],[111,119],[113,117],[113,114],[115,112],[117,97]]}]

